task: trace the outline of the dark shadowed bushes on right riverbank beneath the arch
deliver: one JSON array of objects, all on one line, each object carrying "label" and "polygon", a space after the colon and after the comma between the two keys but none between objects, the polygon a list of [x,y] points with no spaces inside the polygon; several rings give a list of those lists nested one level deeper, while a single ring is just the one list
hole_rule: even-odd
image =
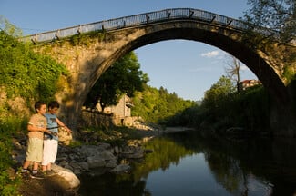
[{"label": "dark shadowed bushes on right riverbank beneath the arch", "polygon": [[240,127],[250,132],[268,132],[270,98],[261,85],[236,92],[230,79],[222,76],[205,93],[200,106],[193,106],[174,116],[174,122],[192,127],[206,124],[223,132]]}]

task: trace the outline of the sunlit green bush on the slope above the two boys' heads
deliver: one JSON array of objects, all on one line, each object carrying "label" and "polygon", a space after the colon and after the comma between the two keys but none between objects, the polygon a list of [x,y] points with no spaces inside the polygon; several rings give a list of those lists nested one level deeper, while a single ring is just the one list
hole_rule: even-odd
[{"label": "sunlit green bush on the slope above the two boys' heads", "polygon": [[0,31],[0,81],[8,98],[21,96],[29,100],[48,101],[54,97],[56,85],[66,67],[48,56],[34,53],[29,45]]}]

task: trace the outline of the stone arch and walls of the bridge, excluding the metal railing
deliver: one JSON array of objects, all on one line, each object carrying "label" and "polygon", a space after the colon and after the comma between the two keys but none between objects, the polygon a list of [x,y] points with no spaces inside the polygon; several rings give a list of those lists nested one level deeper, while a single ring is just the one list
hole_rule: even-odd
[{"label": "stone arch and walls of the bridge, excluding the metal railing", "polygon": [[[103,33],[82,34],[76,44],[73,44],[72,38],[37,48],[37,51],[50,54],[66,64],[71,72],[70,80],[66,81],[68,87],[56,96],[63,103],[61,112],[65,114],[66,122],[77,122],[77,113],[80,112],[87,93],[99,76],[118,58],[147,44],[185,39],[216,46],[246,64],[274,98],[274,116],[271,117],[274,121],[270,123],[276,130],[275,134],[295,135],[291,124],[293,115],[291,119],[281,115],[282,112],[291,110],[291,97],[282,76],[284,64],[278,56],[270,56],[268,51],[261,51],[256,45],[252,45],[251,40],[244,40],[240,29],[209,21],[177,18]],[[269,46],[279,49],[277,44]]]}]

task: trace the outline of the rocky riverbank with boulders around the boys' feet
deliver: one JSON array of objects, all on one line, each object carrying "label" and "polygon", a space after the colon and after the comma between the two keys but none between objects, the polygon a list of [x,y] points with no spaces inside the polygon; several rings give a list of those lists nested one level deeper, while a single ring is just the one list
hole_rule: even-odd
[{"label": "rocky riverbank with boulders around the boys' feet", "polygon": [[[142,144],[148,142],[159,132],[137,131],[138,140],[128,140],[125,146],[111,146],[106,142],[83,144],[77,147],[59,145],[56,164],[52,169],[56,172],[43,180],[22,179],[19,192],[24,196],[30,195],[76,195],[81,173],[92,173],[92,170],[102,168],[106,172],[124,172],[130,169],[128,162],[119,160],[140,159],[149,150],[143,149]],[[18,167],[25,160],[26,138],[15,139],[13,158]],[[15,169],[16,170],[16,169]]]}]

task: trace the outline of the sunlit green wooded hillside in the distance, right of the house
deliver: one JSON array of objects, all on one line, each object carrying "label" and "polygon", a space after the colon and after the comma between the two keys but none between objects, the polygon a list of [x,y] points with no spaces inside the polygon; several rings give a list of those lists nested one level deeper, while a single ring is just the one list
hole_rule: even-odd
[{"label": "sunlit green wooded hillside in the distance, right of the house", "polygon": [[162,124],[172,122],[171,117],[195,105],[192,101],[179,98],[176,93],[168,93],[163,87],[158,90],[148,85],[145,85],[143,92],[137,93],[133,103],[132,116],[141,116],[147,122]]}]

